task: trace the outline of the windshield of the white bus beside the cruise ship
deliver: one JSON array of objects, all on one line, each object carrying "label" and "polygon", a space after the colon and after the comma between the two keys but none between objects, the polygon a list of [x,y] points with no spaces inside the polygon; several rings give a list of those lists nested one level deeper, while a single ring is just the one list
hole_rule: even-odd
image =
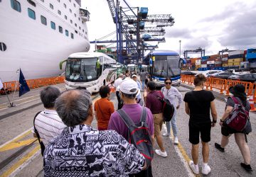
[{"label": "windshield of the white bus beside the cruise ship", "polygon": [[65,78],[68,81],[94,81],[97,79],[97,57],[68,59]]}]

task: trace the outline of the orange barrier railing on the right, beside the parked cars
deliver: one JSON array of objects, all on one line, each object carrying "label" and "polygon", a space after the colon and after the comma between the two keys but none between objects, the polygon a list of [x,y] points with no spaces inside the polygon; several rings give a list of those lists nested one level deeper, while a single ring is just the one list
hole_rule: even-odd
[{"label": "orange barrier railing on the right, beside the parked cars", "polygon": [[[193,80],[195,76],[183,75],[181,74],[181,82],[193,84]],[[236,80],[226,80],[226,79],[218,79],[218,78],[206,78],[206,89],[210,88],[210,91],[213,89],[220,90],[220,94],[225,94],[226,96],[230,95],[229,89],[231,86],[235,86],[236,84],[242,84],[245,86],[245,93],[247,96],[253,96],[253,101],[256,103],[256,84],[252,84],[247,81],[236,81]]]}]

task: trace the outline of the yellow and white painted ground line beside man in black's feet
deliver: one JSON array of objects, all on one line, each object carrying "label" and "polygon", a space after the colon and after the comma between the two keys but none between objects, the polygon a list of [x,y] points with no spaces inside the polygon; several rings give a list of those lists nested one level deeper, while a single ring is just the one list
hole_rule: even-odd
[{"label": "yellow and white painted ground line beside man in black's feet", "polygon": [[[166,126],[163,126],[162,130],[167,132]],[[172,131],[171,131],[171,136],[169,136],[169,139],[171,139],[171,142],[174,144],[174,135],[173,135]],[[183,166],[185,167],[186,171],[188,172],[188,176],[189,177],[198,176],[198,175],[194,174],[191,171],[190,167],[188,166],[188,162],[191,161],[191,159],[188,157],[188,154],[186,154],[185,149],[183,149],[183,147],[181,146],[181,142],[178,142],[178,145],[174,144],[174,149],[175,149],[176,154],[178,154],[178,157],[181,159],[181,162],[182,162]]]}]

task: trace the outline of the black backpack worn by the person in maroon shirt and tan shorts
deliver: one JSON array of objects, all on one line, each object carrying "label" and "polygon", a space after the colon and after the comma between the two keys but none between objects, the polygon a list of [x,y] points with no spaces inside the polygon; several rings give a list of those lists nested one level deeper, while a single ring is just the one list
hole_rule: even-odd
[{"label": "black backpack worn by the person in maroon shirt and tan shorts", "polygon": [[[161,91],[159,91],[159,92],[161,93]],[[156,95],[154,95],[154,96],[156,96]],[[162,112],[164,115],[164,121],[165,122],[171,121],[171,118],[174,116],[174,111],[175,111],[174,105],[171,104],[171,102],[168,99],[164,98],[163,93],[161,93],[161,97],[156,96],[156,98],[159,101],[161,101],[161,103],[163,104]]]}]

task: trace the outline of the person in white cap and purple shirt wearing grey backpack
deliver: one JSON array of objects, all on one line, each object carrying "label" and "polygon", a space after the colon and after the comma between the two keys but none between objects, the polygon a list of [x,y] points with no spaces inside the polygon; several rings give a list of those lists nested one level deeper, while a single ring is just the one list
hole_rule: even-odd
[{"label": "person in white cap and purple shirt wearing grey backpack", "polygon": [[[132,79],[122,81],[119,91],[124,105],[121,110],[115,111],[110,116],[108,130],[117,131],[119,135],[122,135],[128,142],[134,144],[144,155],[147,169],[132,176],[150,177],[152,176],[151,159],[154,155],[153,115],[148,108],[142,107],[136,102],[135,98],[139,89],[135,81]],[[133,134],[130,133],[132,131],[134,131]],[[139,143],[137,144],[137,142]]]}]

